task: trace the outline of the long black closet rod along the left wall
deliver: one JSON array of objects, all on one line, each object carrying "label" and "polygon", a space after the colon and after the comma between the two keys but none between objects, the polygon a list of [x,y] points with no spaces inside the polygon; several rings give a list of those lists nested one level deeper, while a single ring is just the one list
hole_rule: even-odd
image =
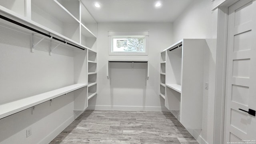
[{"label": "long black closet rod along the left wall", "polygon": [[14,24],[17,24],[18,26],[22,26],[23,28],[32,30],[32,31],[34,31],[34,32],[36,32],[36,33],[38,33],[38,34],[42,34],[42,35],[44,35],[44,36],[47,36],[47,37],[52,38],[52,39],[54,39],[54,40],[58,40],[58,41],[60,41],[60,42],[63,42],[63,43],[65,43],[65,44],[68,44],[68,45],[70,45],[70,46],[74,46],[74,47],[76,47],[76,48],[80,48],[81,50],[85,50],[84,48],[81,48],[81,47],[76,46],[76,45],[74,45],[74,44],[70,44],[69,42],[65,42],[64,40],[61,40],[61,39],[59,39],[59,38],[55,38],[55,37],[53,37],[53,36],[50,36],[49,34],[46,34],[46,33],[44,33],[44,32],[41,32],[41,31],[39,31],[39,30],[36,30],[36,29],[31,28],[31,27],[29,27],[29,26],[26,26],[25,24],[22,24],[22,23],[20,23],[20,22],[17,22],[17,21],[15,21],[15,20],[12,20],[12,19],[7,18],[7,17],[5,17],[5,16],[0,15],[0,18],[2,18],[3,20],[6,20],[6,21],[8,21],[8,22],[12,22],[12,23],[14,23]]}]

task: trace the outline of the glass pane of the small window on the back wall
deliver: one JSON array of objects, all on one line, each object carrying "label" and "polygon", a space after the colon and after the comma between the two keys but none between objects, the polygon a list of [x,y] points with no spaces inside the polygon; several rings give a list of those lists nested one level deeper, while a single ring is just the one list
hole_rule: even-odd
[{"label": "glass pane of the small window on the back wall", "polygon": [[113,38],[112,52],[145,52],[145,38]]}]

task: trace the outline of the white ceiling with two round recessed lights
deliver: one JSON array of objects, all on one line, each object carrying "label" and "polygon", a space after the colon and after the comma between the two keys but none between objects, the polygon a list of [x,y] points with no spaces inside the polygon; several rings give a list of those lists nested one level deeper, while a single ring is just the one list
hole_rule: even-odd
[{"label": "white ceiling with two round recessed lights", "polygon": [[[173,22],[192,0],[81,0],[96,22]],[[160,1],[162,6],[155,8]],[[94,3],[100,3],[96,8]]]}]

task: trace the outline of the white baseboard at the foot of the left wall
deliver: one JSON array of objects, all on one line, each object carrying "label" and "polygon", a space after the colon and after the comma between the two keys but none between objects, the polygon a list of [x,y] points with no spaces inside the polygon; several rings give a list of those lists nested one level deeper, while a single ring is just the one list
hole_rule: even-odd
[{"label": "white baseboard at the foot of the left wall", "polygon": [[50,134],[48,134],[44,139],[42,139],[40,142],[38,142],[38,144],[48,144],[56,136],[58,136],[58,134],[60,134],[60,132],[62,132],[62,130],[64,130],[68,125],[70,125],[73,121],[74,121],[74,116],[71,116],[70,118],[68,118],[68,120],[66,120],[65,122],[60,124],[60,126],[58,126]]}]

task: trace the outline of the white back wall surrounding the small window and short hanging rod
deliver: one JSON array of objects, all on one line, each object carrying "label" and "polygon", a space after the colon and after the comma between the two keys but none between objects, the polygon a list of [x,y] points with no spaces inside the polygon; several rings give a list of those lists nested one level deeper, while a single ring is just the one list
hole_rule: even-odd
[{"label": "white back wall surrounding the small window and short hanging rod", "polygon": [[[148,30],[148,56],[108,55],[109,30]],[[172,44],[171,23],[99,23],[98,24],[98,94],[89,100],[90,109],[166,110],[159,96],[160,52]],[[148,60],[149,79],[145,64],[111,63],[108,60]]]}]

